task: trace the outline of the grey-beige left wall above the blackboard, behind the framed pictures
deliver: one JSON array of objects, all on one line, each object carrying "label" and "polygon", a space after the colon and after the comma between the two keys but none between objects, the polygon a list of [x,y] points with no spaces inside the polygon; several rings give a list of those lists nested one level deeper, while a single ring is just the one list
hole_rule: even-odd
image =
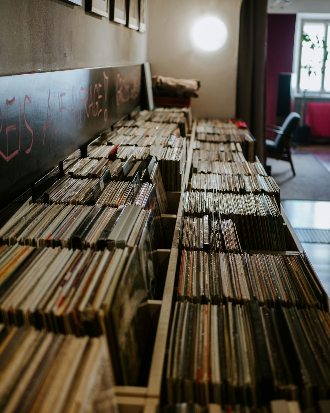
[{"label": "grey-beige left wall above the blackboard, behind the framed pictures", "polygon": [[0,75],[146,61],[147,34],[61,0],[0,0]]}]

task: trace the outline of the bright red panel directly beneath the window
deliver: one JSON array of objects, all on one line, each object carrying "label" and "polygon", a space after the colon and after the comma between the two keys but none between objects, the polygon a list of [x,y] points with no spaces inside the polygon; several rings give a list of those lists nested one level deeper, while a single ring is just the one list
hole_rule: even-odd
[{"label": "bright red panel directly beneath the window", "polygon": [[311,126],[311,137],[330,138],[330,103],[307,102],[305,123]]}]

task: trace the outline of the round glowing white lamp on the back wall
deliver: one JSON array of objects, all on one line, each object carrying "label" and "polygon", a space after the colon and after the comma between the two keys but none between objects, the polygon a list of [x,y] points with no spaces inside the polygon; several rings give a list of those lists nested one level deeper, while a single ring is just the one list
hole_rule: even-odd
[{"label": "round glowing white lamp on the back wall", "polygon": [[226,44],[228,30],[224,22],[217,17],[204,17],[193,26],[192,37],[200,49],[214,52]]}]

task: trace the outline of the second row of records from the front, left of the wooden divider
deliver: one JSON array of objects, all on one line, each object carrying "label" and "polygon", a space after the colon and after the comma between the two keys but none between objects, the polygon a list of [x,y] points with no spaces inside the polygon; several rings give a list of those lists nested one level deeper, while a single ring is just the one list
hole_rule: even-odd
[{"label": "second row of records from the front, left of the wooden divider", "polygon": [[152,334],[146,283],[149,291],[155,287],[155,279],[144,277],[143,259],[137,247],[95,252],[2,246],[1,322],[78,336],[104,334],[116,383],[137,385]]}]

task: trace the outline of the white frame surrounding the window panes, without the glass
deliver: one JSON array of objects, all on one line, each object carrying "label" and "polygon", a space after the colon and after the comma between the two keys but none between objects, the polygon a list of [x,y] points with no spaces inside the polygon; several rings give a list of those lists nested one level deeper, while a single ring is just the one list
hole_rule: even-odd
[{"label": "white frame surrounding the window panes, without the glass", "polygon": [[[294,74],[292,79],[292,89],[296,97],[304,97],[306,94],[309,98],[328,98],[330,99],[330,90],[326,91],[324,89],[324,78],[325,70],[321,73],[321,90],[319,92],[300,89],[300,72],[301,72],[301,58],[302,58],[302,32],[303,26],[306,23],[321,23],[325,26],[325,39],[328,38],[328,31],[330,26],[330,13],[297,13],[296,17],[296,27],[295,27],[295,41],[294,41],[294,52],[293,52],[293,64],[292,73]],[[328,50],[330,45],[328,45]],[[330,50],[329,50],[330,51]],[[323,51],[324,53],[324,51]],[[323,55],[324,56],[324,55]],[[325,69],[325,66],[323,66]]]}]

